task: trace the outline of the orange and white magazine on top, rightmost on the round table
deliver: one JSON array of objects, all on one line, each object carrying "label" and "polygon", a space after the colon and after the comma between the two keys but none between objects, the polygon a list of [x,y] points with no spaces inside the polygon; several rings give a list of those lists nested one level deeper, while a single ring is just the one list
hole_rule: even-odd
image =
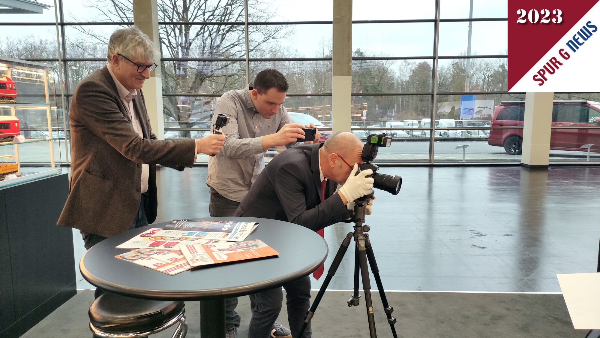
[{"label": "orange and white magazine on top, rightmost on the round table", "polygon": [[220,241],[209,244],[183,244],[181,252],[192,267],[200,265],[218,264],[226,262],[245,261],[279,253],[261,240],[247,240],[239,242]]}]

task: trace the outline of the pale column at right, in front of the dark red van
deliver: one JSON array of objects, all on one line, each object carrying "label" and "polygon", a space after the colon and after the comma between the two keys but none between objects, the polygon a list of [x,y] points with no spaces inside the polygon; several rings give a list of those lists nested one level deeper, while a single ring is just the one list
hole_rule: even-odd
[{"label": "pale column at right, in front of the dark red van", "polygon": [[525,94],[521,166],[548,167],[553,100],[553,92],[528,92]]}]

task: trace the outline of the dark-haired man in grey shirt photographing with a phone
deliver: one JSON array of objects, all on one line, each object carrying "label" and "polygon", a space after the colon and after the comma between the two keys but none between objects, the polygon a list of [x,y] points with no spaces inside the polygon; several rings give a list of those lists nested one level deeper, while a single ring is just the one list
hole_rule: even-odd
[{"label": "dark-haired man in grey shirt photographing with a phone", "polygon": [[[251,185],[265,167],[265,152],[272,146],[290,148],[304,139],[304,126],[292,121],[283,107],[289,88],[286,78],[278,70],[265,69],[256,75],[253,83],[239,91],[228,91],[217,102],[212,119],[218,114],[229,116],[229,123],[221,131],[227,136],[221,152],[208,161],[210,187],[209,213],[211,217],[233,216]],[[320,134],[315,137],[318,142]],[[238,298],[225,300],[227,338],[237,338],[240,318],[235,307]],[[254,304],[251,304],[254,307]],[[275,323],[271,337],[292,337],[286,327]]]}]

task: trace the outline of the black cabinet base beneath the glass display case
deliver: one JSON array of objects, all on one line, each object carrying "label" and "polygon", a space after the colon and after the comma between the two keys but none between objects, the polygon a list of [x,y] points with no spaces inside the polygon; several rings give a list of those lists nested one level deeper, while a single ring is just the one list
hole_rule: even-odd
[{"label": "black cabinet base beneath the glass display case", "polygon": [[19,337],[76,291],[73,232],[56,225],[68,174],[0,189],[0,337]]}]

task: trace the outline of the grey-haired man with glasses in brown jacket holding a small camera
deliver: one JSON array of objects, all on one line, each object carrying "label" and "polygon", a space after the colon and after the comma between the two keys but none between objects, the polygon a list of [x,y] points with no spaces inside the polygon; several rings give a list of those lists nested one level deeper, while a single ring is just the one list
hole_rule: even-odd
[{"label": "grey-haired man with glasses in brown jacket holding a small camera", "polygon": [[85,77],[73,93],[71,180],[58,225],[79,229],[86,249],[107,237],[154,222],[156,166],[182,171],[197,153],[216,154],[224,135],[158,140],[140,90],[157,50],[135,27],[110,37],[109,64]]}]

